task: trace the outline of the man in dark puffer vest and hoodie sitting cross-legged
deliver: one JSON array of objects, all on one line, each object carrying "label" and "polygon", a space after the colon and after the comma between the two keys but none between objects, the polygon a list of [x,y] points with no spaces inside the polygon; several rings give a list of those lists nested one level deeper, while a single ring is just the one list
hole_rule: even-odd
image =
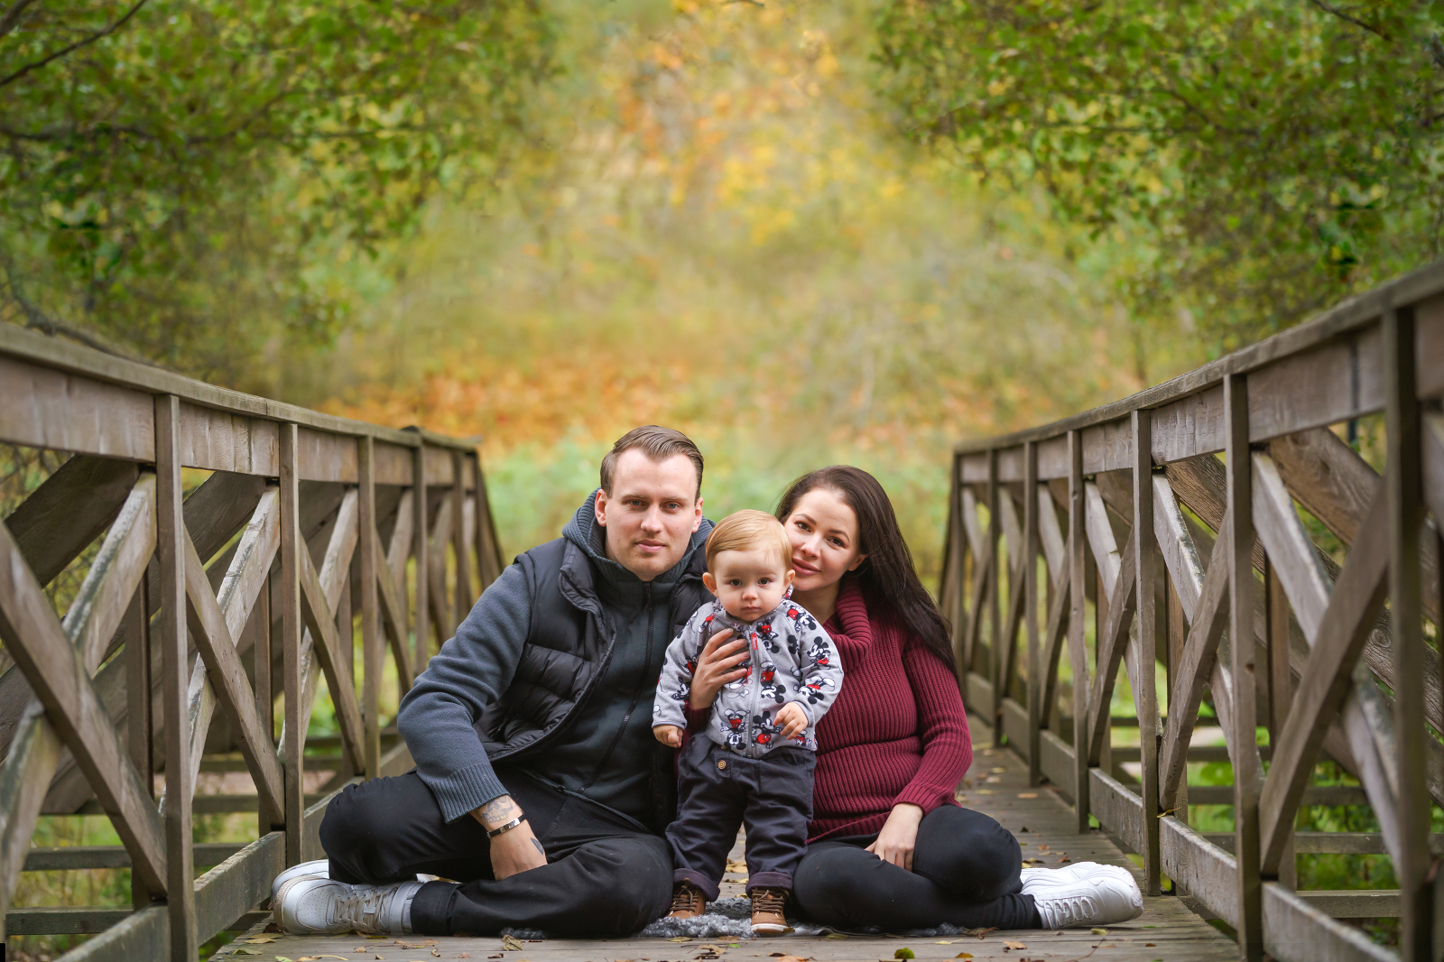
[{"label": "man in dark puffer vest and hoodie sitting cross-legged", "polygon": [[661,916],[676,783],[651,702],[667,644],[709,598],[710,527],[686,435],[619,438],[563,536],[503,572],[403,699],[416,768],[331,803],[329,862],[277,877],[276,920],[619,936]]}]

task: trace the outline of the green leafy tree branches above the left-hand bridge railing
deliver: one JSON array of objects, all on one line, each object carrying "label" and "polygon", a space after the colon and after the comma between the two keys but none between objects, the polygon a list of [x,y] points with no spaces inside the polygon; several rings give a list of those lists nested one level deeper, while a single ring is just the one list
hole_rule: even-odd
[{"label": "green leafy tree branches above the left-hand bridge railing", "polygon": [[9,4],[0,316],[256,383],[336,332],[345,264],[495,175],[552,30],[534,0]]}]

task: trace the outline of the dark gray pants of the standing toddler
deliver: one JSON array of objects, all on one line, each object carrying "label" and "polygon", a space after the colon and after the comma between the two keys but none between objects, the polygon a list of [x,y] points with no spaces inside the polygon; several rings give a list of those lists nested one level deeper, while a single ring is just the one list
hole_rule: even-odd
[{"label": "dark gray pants of the standing toddler", "polygon": [[807,852],[816,764],[806,748],[783,745],[748,758],[695,735],[677,755],[677,820],[667,826],[671,881],[690,881],[713,901],[742,825],[747,890],[791,890]]}]

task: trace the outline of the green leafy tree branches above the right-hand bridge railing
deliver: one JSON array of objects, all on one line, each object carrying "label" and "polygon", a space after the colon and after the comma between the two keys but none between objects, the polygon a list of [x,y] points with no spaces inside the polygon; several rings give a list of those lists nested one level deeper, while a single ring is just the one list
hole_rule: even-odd
[{"label": "green leafy tree branches above the right-hand bridge railing", "polygon": [[985,176],[1141,243],[1139,316],[1217,350],[1435,256],[1440,4],[891,0],[879,85]]}]

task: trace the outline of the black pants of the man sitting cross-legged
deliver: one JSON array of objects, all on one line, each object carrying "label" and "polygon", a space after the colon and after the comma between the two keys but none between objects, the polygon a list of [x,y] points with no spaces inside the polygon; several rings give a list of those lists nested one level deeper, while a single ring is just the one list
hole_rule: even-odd
[{"label": "black pants of the man sitting cross-legged", "polygon": [[412,929],[422,935],[511,927],[614,937],[667,911],[671,854],[664,839],[526,774],[497,774],[546,848],[546,865],[495,881],[487,831],[469,815],[445,822],[413,770],[349,786],[326,807],[321,845],[331,877],[351,884],[416,872],[455,880],[427,883],[416,894]]}]

